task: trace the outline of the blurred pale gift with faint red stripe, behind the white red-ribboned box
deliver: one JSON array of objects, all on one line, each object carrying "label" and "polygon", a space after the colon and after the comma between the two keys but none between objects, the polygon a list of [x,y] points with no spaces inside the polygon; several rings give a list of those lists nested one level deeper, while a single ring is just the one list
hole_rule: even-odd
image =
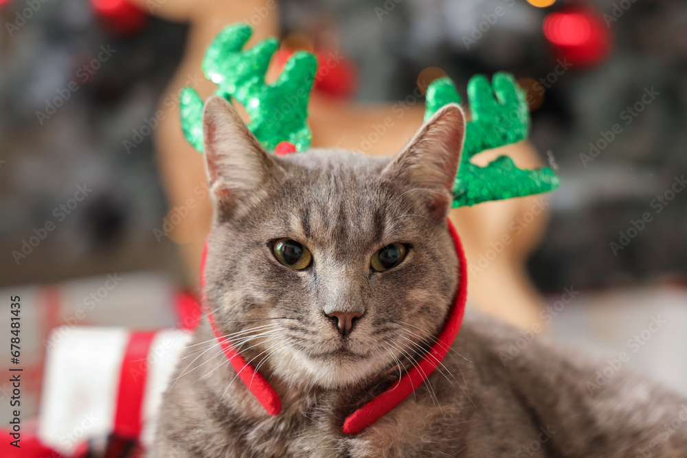
[{"label": "blurred pale gift with faint red stripe, behind the white red-ribboned box", "polygon": [[[112,273],[55,285],[26,285],[0,290],[9,301],[19,297],[21,327],[19,364],[12,364],[10,345],[0,350],[0,370],[21,367],[22,415],[36,415],[46,352],[63,336],[82,325],[113,325],[159,329],[177,323],[178,290],[166,276],[155,273]],[[10,307],[0,314],[0,327],[10,329]],[[61,328],[60,328],[61,327]],[[52,332],[60,328],[60,332]],[[9,336],[9,334],[7,334]],[[8,341],[6,342],[9,344]],[[8,404],[12,387],[0,382],[0,402]],[[0,409],[7,425],[10,409]]]}]

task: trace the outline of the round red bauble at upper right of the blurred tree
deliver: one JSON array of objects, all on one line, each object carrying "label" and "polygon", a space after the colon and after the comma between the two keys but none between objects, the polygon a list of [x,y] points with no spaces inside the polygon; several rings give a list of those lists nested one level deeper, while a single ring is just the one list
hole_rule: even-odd
[{"label": "round red bauble at upper right of the blurred tree", "polygon": [[545,17],[544,36],[556,58],[577,67],[605,60],[611,51],[611,32],[601,16],[589,8],[570,8]]}]

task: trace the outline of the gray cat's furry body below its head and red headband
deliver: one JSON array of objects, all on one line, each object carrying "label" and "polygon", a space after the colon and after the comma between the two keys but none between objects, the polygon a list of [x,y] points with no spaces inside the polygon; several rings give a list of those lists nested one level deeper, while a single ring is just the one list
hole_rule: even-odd
[{"label": "gray cat's furry body below its head and red headband", "polygon": [[[341,426],[369,400],[364,389],[295,391],[277,384],[289,396],[282,413],[270,417],[240,380],[218,402],[233,376],[231,369],[205,376],[220,363],[215,359],[170,391],[156,456],[687,456],[687,400],[624,370],[590,390],[587,382],[596,384],[596,371],[607,363],[574,358],[537,340],[504,366],[502,356],[521,337],[495,321],[467,318],[445,367],[352,436]],[[210,338],[205,325],[197,340]],[[682,428],[675,428],[676,420]]]}]

